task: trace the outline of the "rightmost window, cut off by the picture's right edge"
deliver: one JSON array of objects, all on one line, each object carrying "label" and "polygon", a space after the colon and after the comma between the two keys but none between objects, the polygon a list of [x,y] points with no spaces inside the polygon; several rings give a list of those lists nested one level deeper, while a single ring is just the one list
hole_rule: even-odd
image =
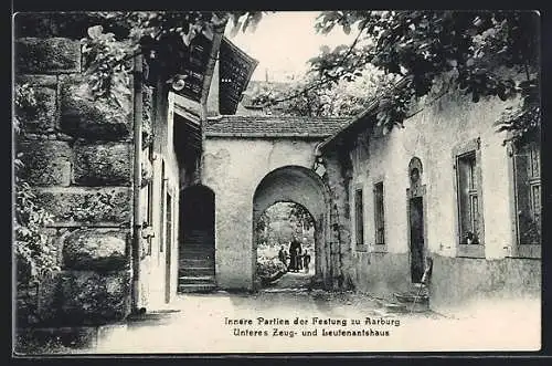
[{"label": "rightmost window, cut off by the picture's right edge", "polygon": [[516,228],[519,257],[540,257],[541,245],[541,153],[529,143],[513,155]]}]

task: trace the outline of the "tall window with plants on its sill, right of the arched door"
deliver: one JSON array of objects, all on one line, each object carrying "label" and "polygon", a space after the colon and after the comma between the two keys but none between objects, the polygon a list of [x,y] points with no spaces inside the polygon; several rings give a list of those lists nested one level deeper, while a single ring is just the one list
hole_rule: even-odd
[{"label": "tall window with plants on its sill, right of the arched door", "polygon": [[464,257],[485,257],[479,159],[479,139],[456,155],[458,243]]}]

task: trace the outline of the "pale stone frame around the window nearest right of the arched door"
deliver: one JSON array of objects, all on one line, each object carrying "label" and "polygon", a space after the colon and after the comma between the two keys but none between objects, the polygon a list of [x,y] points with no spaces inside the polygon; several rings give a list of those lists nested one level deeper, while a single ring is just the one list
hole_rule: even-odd
[{"label": "pale stone frame around the window nearest right of the arched door", "polygon": [[[477,187],[477,210],[478,210],[478,243],[467,244],[463,243],[460,239],[461,233],[461,207],[460,207],[460,187],[459,187],[459,170],[458,163],[467,155],[474,154],[475,156],[475,170],[471,174],[476,175]],[[455,201],[455,241],[457,248],[457,257],[463,258],[485,258],[485,217],[484,217],[484,198],[482,198],[482,171],[481,171],[481,139],[479,137],[467,140],[453,148],[453,172],[454,172],[454,201]],[[470,179],[473,180],[473,178]],[[469,182],[468,182],[469,184]],[[471,203],[471,196],[468,195],[469,203]],[[473,212],[470,210],[470,212]],[[471,213],[470,213],[471,215]],[[473,221],[471,218],[468,218]]]}]

